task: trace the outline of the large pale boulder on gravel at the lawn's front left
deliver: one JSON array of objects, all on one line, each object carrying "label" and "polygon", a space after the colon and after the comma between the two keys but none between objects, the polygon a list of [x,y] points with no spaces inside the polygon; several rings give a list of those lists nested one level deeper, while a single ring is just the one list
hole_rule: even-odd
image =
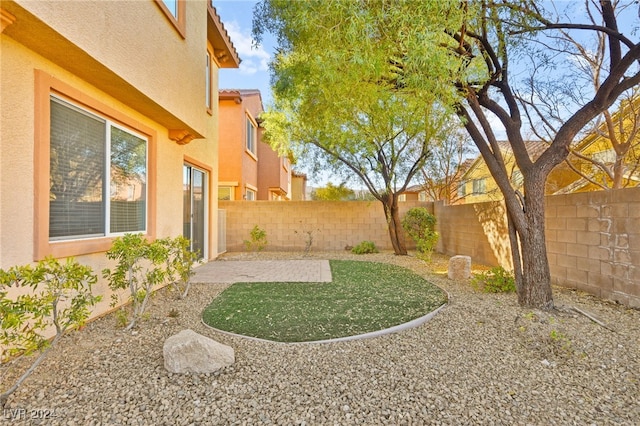
[{"label": "large pale boulder on gravel at the lawn's front left", "polygon": [[235,362],[233,348],[193,330],[164,342],[164,367],[172,373],[213,373]]}]

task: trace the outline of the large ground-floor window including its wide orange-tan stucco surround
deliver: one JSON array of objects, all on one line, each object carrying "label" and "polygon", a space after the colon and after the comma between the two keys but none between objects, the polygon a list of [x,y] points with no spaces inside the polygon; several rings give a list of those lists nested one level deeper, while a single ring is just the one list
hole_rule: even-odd
[{"label": "large ground-floor window including its wide orange-tan stucco surround", "polygon": [[41,70],[34,83],[34,260],[155,238],[155,129]]}]

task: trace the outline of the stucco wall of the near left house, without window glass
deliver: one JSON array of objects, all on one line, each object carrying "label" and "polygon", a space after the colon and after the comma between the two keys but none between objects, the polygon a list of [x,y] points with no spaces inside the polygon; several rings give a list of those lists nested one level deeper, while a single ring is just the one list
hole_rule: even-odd
[{"label": "stucco wall of the near left house, without window glass", "polygon": [[[1,268],[49,255],[74,256],[98,275],[108,266],[112,236],[49,239],[51,95],[147,138],[149,238],[182,234],[183,165],[207,171],[207,257],[216,257],[217,69],[238,58],[232,49],[230,62],[212,62],[207,109],[205,58],[220,53],[211,36],[220,23],[208,1],[180,3],[184,34],[154,0],[0,4]],[[107,294],[106,283],[96,291]]]}]

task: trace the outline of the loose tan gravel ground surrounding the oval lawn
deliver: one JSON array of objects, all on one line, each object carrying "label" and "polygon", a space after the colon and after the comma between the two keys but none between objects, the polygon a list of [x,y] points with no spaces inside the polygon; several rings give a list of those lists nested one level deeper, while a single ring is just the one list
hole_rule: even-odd
[{"label": "loose tan gravel ground surrounding the oval lawn", "polygon": [[[184,301],[163,290],[134,332],[117,329],[111,315],[63,338],[9,399],[0,424],[638,424],[640,311],[556,288],[557,309],[538,312],[514,295],[449,281],[442,256],[429,265],[389,253],[355,258],[411,268],[448,291],[450,303],[401,333],[287,345],[203,326],[202,309],[224,285],[197,284]],[[232,346],[235,365],[168,373],[163,342],[185,328]]]}]

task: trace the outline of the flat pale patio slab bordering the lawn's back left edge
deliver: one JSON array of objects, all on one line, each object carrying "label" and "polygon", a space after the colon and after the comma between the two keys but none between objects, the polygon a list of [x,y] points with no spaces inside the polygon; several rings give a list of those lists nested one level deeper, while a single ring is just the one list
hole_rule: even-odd
[{"label": "flat pale patio slab bordering the lawn's back left edge", "polygon": [[193,283],[331,282],[328,260],[212,261],[195,268]]}]

